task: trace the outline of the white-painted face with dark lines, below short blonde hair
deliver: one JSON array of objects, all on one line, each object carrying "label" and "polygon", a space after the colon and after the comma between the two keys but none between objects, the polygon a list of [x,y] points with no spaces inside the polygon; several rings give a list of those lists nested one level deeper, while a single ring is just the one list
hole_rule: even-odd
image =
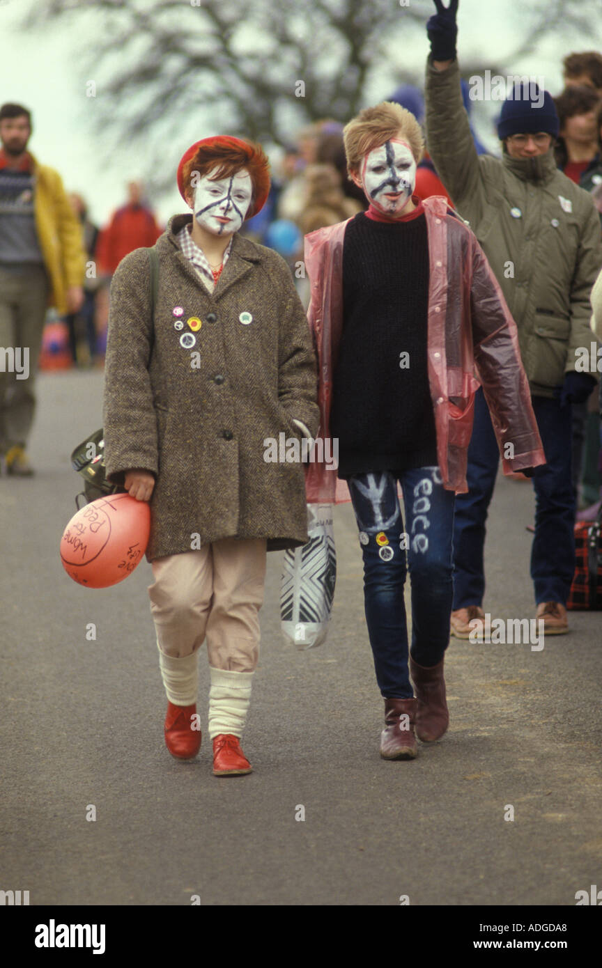
[{"label": "white-painted face with dark lines, below short blonde hair", "polygon": [[392,137],[370,151],[360,170],[366,197],[384,215],[404,214],[416,184],[416,163],[406,141]]}]

